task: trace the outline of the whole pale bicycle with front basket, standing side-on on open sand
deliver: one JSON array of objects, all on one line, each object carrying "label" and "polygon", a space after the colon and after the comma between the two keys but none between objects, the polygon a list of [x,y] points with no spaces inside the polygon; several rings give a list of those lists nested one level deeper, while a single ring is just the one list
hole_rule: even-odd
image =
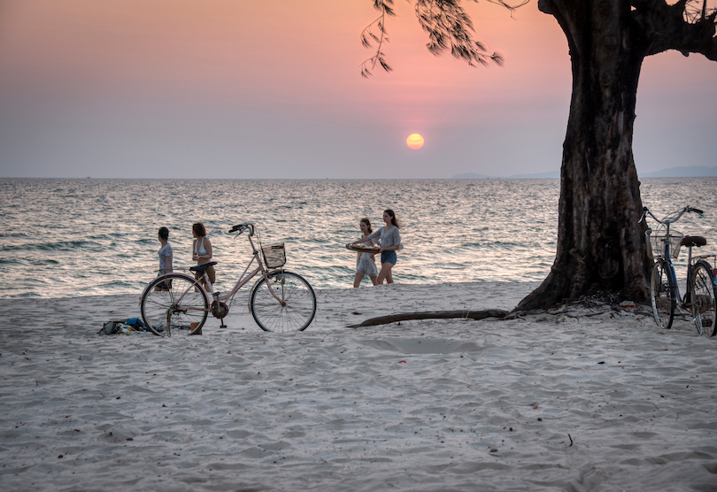
[{"label": "whole pale bicycle with front basket, standing side-on on open sand", "polygon": [[[214,292],[207,277],[206,269],[216,265],[215,261],[189,268],[199,273],[197,279],[187,273],[166,273],[144,288],[140,311],[144,324],[152,333],[160,336],[171,336],[173,332],[200,334],[210,312],[215,318],[222,319],[221,327],[225,327],[223,319],[235,294],[256,275],[259,279],[251,288],[249,310],[261,329],[270,332],[302,331],[311,324],[316,314],[316,295],[303,277],[283,269],[286,263],[283,243],[262,247],[258,238],[264,258],[262,263],[252,240],[257,232],[253,224],[232,227],[227,234],[236,233],[236,238],[244,231],[249,231],[247,239],[251,244],[252,258],[228,294],[222,296],[220,292]],[[250,272],[255,261],[257,265]],[[159,283],[169,288],[155,290]]]}]

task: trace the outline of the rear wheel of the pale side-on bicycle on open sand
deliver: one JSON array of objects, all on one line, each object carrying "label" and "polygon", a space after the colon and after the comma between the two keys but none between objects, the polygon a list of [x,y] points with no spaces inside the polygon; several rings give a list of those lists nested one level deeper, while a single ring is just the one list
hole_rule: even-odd
[{"label": "rear wheel of the pale side-on bicycle on open sand", "polygon": [[[157,287],[164,288],[155,290]],[[183,273],[169,273],[151,281],[144,289],[140,312],[144,326],[153,334],[198,334],[209,313],[209,301],[192,277]]]}]

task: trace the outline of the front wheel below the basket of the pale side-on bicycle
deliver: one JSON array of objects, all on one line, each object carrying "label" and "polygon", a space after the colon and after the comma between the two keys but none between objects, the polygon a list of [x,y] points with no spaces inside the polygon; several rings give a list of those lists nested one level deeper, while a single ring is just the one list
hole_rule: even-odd
[{"label": "front wheel below the basket of the pale side-on bicycle", "polygon": [[316,314],[312,286],[296,273],[280,272],[251,291],[251,316],[267,332],[303,331]]}]

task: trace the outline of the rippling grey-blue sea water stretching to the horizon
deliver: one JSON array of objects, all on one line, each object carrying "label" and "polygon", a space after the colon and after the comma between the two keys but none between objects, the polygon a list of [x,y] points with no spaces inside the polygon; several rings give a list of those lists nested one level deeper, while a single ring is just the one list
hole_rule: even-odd
[{"label": "rippling grey-blue sea water stretching to the horizon", "polygon": [[[704,235],[712,251],[715,192],[717,178],[641,187],[660,217],[703,209],[676,229]],[[262,243],[284,242],[286,268],[314,288],[349,288],[356,253],[345,244],[360,237],[364,217],[382,227],[384,209],[402,226],[396,282],[541,281],[555,256],[558,199],[559,180],[0,179],[0,298],[139,295],[157,275],[158,227],[169,228],[174,270],[186,271],[197,221],[219,262],[218,290],[251,259],[246,236],[227,234],[247,221]]]}]

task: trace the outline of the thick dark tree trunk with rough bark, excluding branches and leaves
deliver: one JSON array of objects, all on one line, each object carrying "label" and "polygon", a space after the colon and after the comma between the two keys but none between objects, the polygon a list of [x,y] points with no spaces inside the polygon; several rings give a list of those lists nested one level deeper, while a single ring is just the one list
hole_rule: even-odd
[{"label": "thick dark tree trunk with rough bark, excluding branches and leaves", "polygon": [[647,42],[625,0],[540,0],[567,36],[573,96],[560,171],[551,273],[517,311],[601,292],[644,302],[650,261],[632,155],[637,81]]}]

